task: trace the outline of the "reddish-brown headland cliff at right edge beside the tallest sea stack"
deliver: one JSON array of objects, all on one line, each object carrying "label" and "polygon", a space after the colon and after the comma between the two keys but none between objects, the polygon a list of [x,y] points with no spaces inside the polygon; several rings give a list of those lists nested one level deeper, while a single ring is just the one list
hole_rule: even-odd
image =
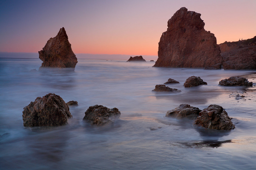
[{"label": "reddish-brown headland cliff at right edge beside the tallest sea stack", "polygon": [[219,44],[224,69],[256,69],[256,36],[251,39]]}]

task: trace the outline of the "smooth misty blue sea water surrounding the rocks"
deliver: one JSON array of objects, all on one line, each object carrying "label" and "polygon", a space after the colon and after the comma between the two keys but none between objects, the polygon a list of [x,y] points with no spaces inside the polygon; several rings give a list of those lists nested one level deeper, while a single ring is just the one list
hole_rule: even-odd
[{"label": "smooth misty blue sea water surrounding the rocks", "polygon": [[[221,79],[252,71],[156,68],[154,62],[78,59],[74,71],[30,71],[39,59],[0,59],[0,169],[256,169],[255,86],[222,87]],[[190,76],[208,85],[184,88]],[[176,94],[152,92],[173,78]],[[247,76],[256,83],[256,78]],[[22,111],[38,96],[55,93],[68,102],[73,119],[50,130],[23,127]],[[246,96],[237,100],[235,95]],[[186,103],[204,109],[218,104],[236,128],[195,128],[193,121],[165,117]],[[89,106],[117,107],[111,128],[82,122]]]}]

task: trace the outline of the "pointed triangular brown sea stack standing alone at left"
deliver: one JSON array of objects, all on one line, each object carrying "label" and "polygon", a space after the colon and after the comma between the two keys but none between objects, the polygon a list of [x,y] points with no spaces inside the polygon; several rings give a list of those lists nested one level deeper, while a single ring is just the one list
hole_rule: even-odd
[{"label": "pointed triangular brown sea stack standing alone at left", "polygon": [[77,64],[77,57],[71,49],[64,27],[60,29],[56,37],[50,38],[43,50],[38,53],[43,61],[41,67],[74,68]]}]

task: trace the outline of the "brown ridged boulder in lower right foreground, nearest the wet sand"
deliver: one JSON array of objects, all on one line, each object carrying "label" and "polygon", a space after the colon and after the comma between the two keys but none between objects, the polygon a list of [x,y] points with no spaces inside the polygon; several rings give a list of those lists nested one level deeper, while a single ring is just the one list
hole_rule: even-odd
[{"label": "brown ridged boulder in lower right foreground, nearest the wet sand", "polygon": [[228,113],[221,106],[215,104],[203,109],[195,120],[194,125],[216,130],[235,128]]}]

